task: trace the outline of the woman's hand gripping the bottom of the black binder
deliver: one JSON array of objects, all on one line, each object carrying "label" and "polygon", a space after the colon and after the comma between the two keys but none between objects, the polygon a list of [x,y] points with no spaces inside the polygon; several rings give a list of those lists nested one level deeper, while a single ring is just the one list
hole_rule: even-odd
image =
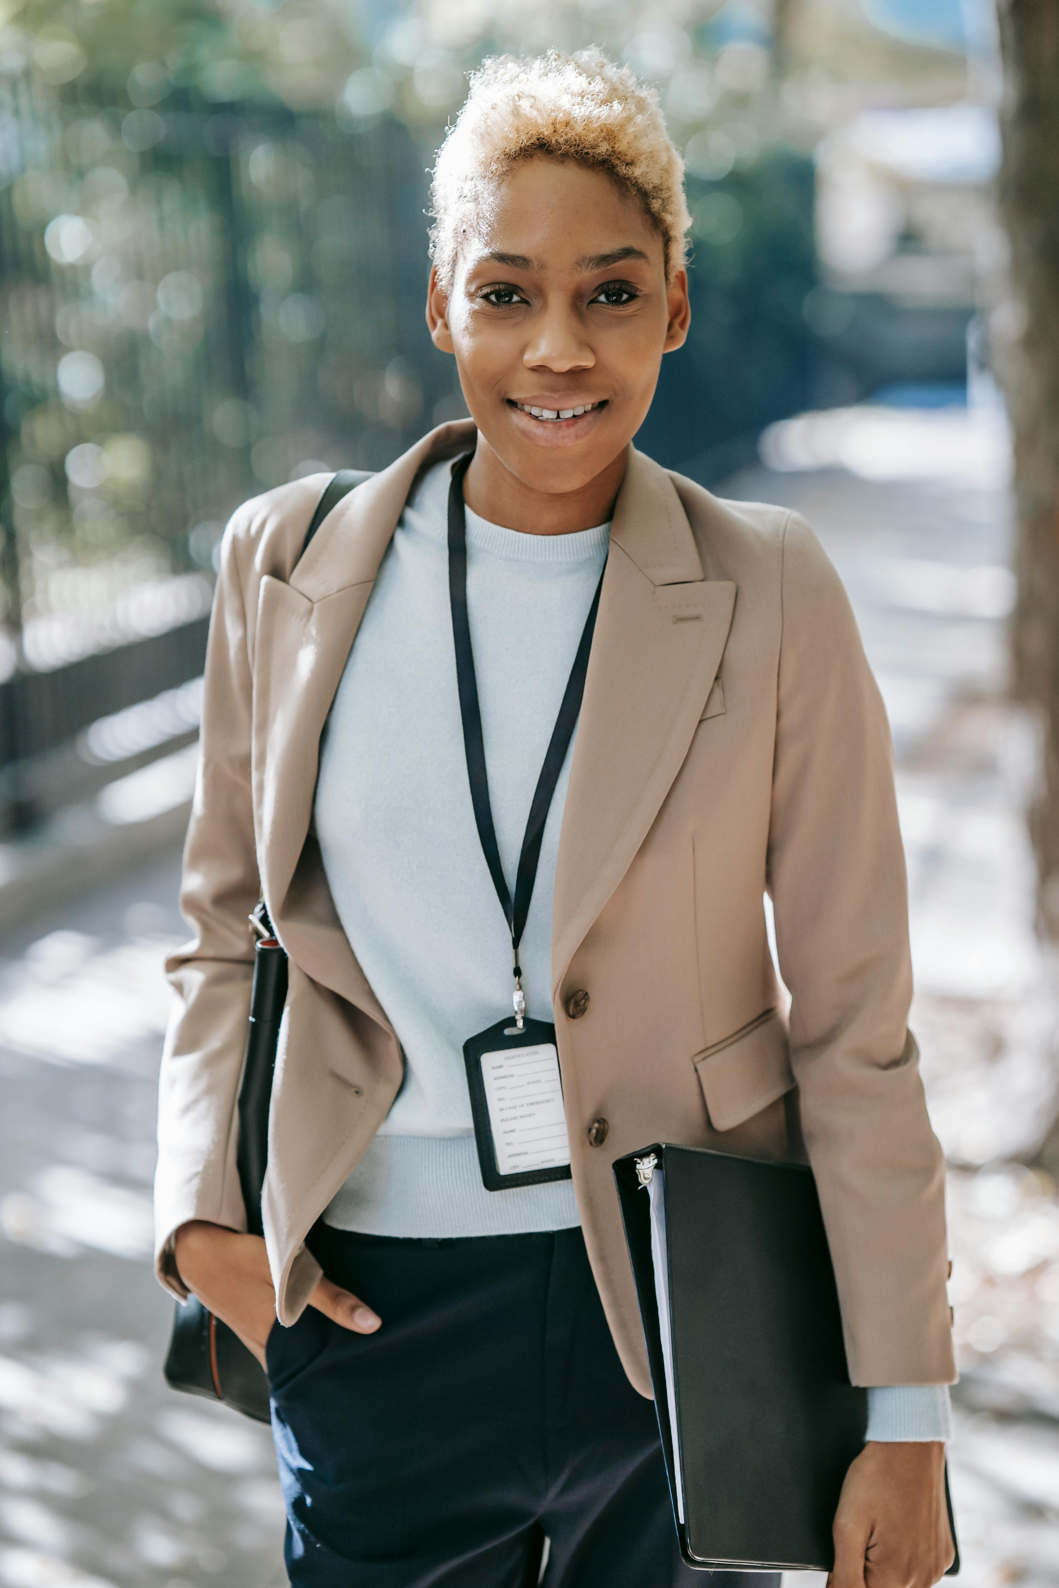
[{"label": "woman's hand gripping the bottom of the black binder", "polygon": [[827,1588],[932,1588],[956,1551],[945,1445],[870,1440],[846,1472]]}]

